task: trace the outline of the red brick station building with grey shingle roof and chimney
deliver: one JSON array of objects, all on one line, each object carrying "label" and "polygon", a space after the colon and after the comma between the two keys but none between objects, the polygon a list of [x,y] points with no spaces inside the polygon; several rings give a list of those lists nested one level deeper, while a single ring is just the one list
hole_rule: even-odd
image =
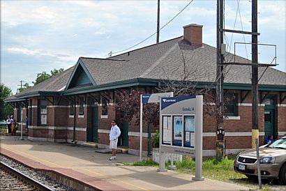
[{"label": "red brick station building with grey shingle roof and chimney", "polygon": [[[183,59],[182,59],[183,58]],[[232,61],[233,54],[225,59]],[[184,61],[185,62],[184,62]],[[240,63],[250,62],[236,56]],[[215,84],[216,48],[202,43],[202,26],[183,27],[183,36],[125,52],[107,59],[80,57],[77,64],[50,79],[6,99],[13,105],[15,119],[29,117],[28,139],[48,142],[93,142],[100,148],[109,145],[110,121],[116,90],[152,93],[163,79],[181,80],[184,68],[189,81],[198,86]],[[226,66],[225,96],[228,119],[224,123],[227,153],[251,148],[251,81],[249,66]],[[265,68],[259,67],[259,75]],[[186,71],[186,70],[185,70]],[[215,87],[215,86],[214,86]],[[259,142],[264,137],[286,133],[286,74],[267,68],[259,80]],[[215,91],[215,89],[213,89]],[[139,153],[140,127],[119,123],[119,146],[128,153]],[[150,151],[150,137],[158,129],[143,127],[143,154]],[[216,121],[204,116],[203,155],[216,154]]]}]

